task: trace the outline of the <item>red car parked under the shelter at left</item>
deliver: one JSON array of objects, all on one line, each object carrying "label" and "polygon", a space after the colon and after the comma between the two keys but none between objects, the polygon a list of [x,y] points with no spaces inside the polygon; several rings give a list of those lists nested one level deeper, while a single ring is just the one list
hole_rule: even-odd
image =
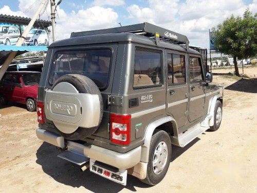
[{"label": "red car parked under the shelter at left", "polygon": [[19,102],[27,104],[28,111],[35,111],[40,76],[39,72],[7,72],[0,81],[0,103]]}]

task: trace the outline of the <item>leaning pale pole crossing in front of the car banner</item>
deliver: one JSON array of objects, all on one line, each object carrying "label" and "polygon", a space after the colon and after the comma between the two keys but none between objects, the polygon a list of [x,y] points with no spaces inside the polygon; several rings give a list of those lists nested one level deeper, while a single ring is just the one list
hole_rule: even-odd
[{"label": "leaning pale pole crossing in front of the car banner", "polygon": [[[24,30],[24,32],[22,33],[21,38],[17,41],[16,46],[21,46],[23,43],[23,39],[26,39],[31,27],[34,25],[35,21],[36,21],[36,17],[39,16],[41,10],[46,6],[48,0],[44,0],[42,1],[41,5],[39,6],[39,9],[36,10],[34,16],[32,17],[31,21],[29,22],[28,26],[26,27],[26,29]],[[9,67],[10,63],[12,62],[13,58],[16,56],[17,51],[12,51],[8,58],[5,60],[4,64],[2,65],[2,67],[0,68],[0,80],[3,78],[7,68]]]}]

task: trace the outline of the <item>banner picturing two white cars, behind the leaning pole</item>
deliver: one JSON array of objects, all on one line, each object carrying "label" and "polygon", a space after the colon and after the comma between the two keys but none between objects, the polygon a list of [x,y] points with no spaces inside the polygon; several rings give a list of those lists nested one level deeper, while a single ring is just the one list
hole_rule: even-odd
[{"label": "banner picturing two white cars, behind the leaning pole", "polygon": [[[26,25],[0,23],[0,45],[15,45]],[[44,27],[32,27],[23,46],[47,46],[49,45],[49,30]]]}]

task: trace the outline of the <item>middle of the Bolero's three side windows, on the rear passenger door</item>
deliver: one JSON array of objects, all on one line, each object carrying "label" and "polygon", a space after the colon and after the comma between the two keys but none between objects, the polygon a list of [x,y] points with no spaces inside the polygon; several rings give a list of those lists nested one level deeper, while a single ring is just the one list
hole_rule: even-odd
[{"label": "middle of the Bolero's three side windows, on the rear passenger door", "polygon": [[186,83],[185,56],[168,54],[168,83]]}]

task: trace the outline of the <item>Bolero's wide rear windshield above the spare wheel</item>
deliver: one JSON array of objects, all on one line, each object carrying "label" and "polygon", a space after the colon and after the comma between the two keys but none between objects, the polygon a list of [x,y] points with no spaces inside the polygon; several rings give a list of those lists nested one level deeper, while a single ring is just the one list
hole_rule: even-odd
[{"label": "Bolero's wide rear windshield above the spare wheel", "polygon": [[112,51],[90,49],[59,51],[54,55],[49,83],[67,74],[81,74],[93,80],[99,89],[108,83]]}]

